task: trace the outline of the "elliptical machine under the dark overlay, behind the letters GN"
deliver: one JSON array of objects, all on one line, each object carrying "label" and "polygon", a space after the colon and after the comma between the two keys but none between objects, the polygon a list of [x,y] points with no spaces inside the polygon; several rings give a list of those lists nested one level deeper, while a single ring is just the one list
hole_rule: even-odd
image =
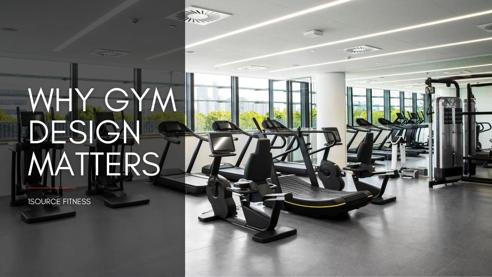
[{"label": "elliptical machine under the dark overlay, behind the letters GN", "polygon": [[[108,126],[113,129],[113,132],[117,132],[115,126],[112,124],[103,124],[99,129],[99,136],[104,140],[100,141],[97,139],[95,132],[97,131],[97,125],[103,121],[109,120],[111,122],[115,122],[115,117],[112,112],[96,112],[94,108],[94,139],[93,142],[85,142],[84,145],[89,147],[89,165],[88,165],[88,187],[86,190],[87,195],[94,194],[104,194],[104,196],[108,197],[104,199],[104,204],[110,208],[121,208],[132,205],[141,205],[147,204],[150,202],[149,198],[142,194],[133,194],[128,195],[123,192],[123,181],[128,182],[132,180],[133,174],[129,172],[128,175],[123,175],[123,165],[124,165],[124,146],[129,145],[132,146],[135,144],[135,141],[132,138],[127,138],[126,143],[124,143],[121,134],[124,128],[121,128],[118,135],[110,135],[108,131]],[[123,112],[122,112],[123,113]],[[124,119],[123,119],[124,121]],[[111,141],[115,138],[115,136],[119,136],[119,138],[112,142],[107,143],[107,141]],[[105,158],[108,153],[118,152],[118,146],[121,145],[120,151],[120,176],[108,176],[104,174],[106,172],[106,162]],[[114,147],[114,149],[113,149]],[[92,152],[102,152],[103,155],[91,155]],[[95,159],[98,159],[97,162]],[[116,159],[116,157],[114,157]],[[113,159],[113,162],[115,162]],[[95,174],[95,165],[98,165],[97,171],[98,175]],[[116,166],[113,165],[110,167],[111,173],[116,172]]]}]

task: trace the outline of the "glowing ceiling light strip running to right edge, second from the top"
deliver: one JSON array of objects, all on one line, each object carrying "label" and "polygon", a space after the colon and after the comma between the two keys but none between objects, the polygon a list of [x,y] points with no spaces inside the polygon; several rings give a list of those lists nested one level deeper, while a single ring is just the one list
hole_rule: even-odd
[{"label": "glowing ceiling light strip running to right edge, second from the top", "polygon": [[272,56],[277,56],[277,55],[282,55],[282,54],[287,54],[287,53],[292,53],[292,52],[297,52],[297,51],[312,49],[312,48],[318,48],[318,47],[323,47],[323,46],[327,46],[327,45],[333,45],[333,44],[347,42],[347,41],[352,41],[352,40],[357,40],[357,39],[363,39],[363,38],[368,38],[368,37],[373,37],[373,36],[378,36],[378,35],[384,35],[384,34],[389,34],[389,33],[394,33],[394,32],[399,32],[399,31],[406,31],[406,30],[411,30],[411,29],[416,29],[416,28],[421,28],[421,27],[426,27],[426,26],[431,26],[431,25],[436,25],[436,24],[451,22],[451,21],[455,21],[455,20],[470,18],[470,17],[484,15],[484,14],[489,14],[489,13],[492,13],[492,10],[487,10],[487,11],[482,11],[482,12],[477,12],[477,13],[462,15],[462,16],[458,16],[458,17],[452,17],[452,18],[438,20],[438,21],[432,21],[432,22],[428,22],[428,23],[423,23],[423,24],[414,25],[414,26],[408,26],[408,27],[404,27],[404,28],[400,28],[400,29],[395,29],[395,30],[382,31],[382,32],[371,33],[371,34],[366,34],[366,35],[362,35],[362,36],[357,36],[357,37],[352,37],[352,38],[347,38],[347,39],[342,39],[342,40],[337,40],[337,41],[332,41],[332,42],[327,42],[327,43],[322,43],[322,44],[317,44],[317,45],[302,47],[302,48],[296,48],[296,49],[292,49],[292,50],[287,50],[287,51],[282,51],[282,52],[278,52],[278,53],[273,53],[273,54],[258,56],[258,57],[244,59],[244,60],[239,60],[239,61],[235,61],[235,62],[226,62],[226,63],[214,65],[214,66],[222,66],[222,65],[232,64],[232,63],[257,60],[257,59],[262,59],[262,58],[267,58],[267,57],[272,57]]}]

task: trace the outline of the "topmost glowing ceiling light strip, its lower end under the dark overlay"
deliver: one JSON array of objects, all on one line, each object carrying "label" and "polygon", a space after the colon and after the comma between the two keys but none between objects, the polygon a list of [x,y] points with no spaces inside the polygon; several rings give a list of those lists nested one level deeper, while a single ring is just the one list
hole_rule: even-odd
[{"label": "topmost glowing ceiling light strip, its lower end under the dark overlay", "polygon": [[268,20],[268,21],[265,21],[265,22],[262,22],[262,23],[251,25],[251,26],[248,26],[248,27],[245,27],[245,28],[236,30],[236,31],[231,31],[231,32],[227,32],[227,33],[224,33],[224,34],[221,34],[221,35],[217,35],[217,36],[214,36],[214,37],[211,37],[211,38],[200,40],[198,42],[188,44],[188,45],[186,45],[184,47],[176,48],[176,49],[169,50],[169,51],[164,52],[164,53],[161,53],[161,54],[157,54],[155,56],[146,58],[145,60],[152,60],[154,58],[157,58],[157,57],[160,57],[160,56],[164,56],[164,55],[167,55],[167,54],[170,54],[170,53],[174,53],[174,52],[179,51],[179,50],[182,50],[182,49],[186,49],[186,48],[190,48],[190,47],[197,46],[197,45],[200,45],[200,44],[204,44],[204,43],[207,43],[207,42],[211,42],[211,41],[214,41],[214,40],[217,40],[217,39],[220,39],[220,38],[224,38],[224,37],[227,37],[227,36],[230,36],[230,35],[233,35],[233,34],[237,34],[237,33],[240,33],[240,32],[245,32],[245,31],[253,30],[253,29],[256,29],[256,28],[265,26],[265,25],[269,25],[269,24],[272,24],[272,23],[276,23],[276,22],[279,22],[279,21],[282,21],[282,20],[286,20],[286,19],[289,19],[289,18],[293,18],[293,17],[299,16],[299,15],[303,15],[303,14],[307,14],[307,13],[310,13],[310,12],[313,12],[313,11],[317,11],[317,10],[321,10],[321,9],[328,8],[328,7],[331,7],[331,6],[335,6],[335,5],[338,5],[338,4],[341,4],[341,3],[345,3],[345,2],[348,2],[348,1],[351,1],[351,0],[337,0],[337,1],[333,1],[333,2],[330,2],[330,3],[326,3],[326,4],[323,4],[323,5],[319,5],[319,6],[316,6],[316,7],[309,8],[307,10],[302,10],[302,11],[298,11],[298,12],[295,12],[295,13],[291,13],[291,14],[288,14],[288,15],[285,15],[285,16],[282,16],[282,17],[278,17],[278,18],[275,18],[275,19],[272,19],[272,20]]}]

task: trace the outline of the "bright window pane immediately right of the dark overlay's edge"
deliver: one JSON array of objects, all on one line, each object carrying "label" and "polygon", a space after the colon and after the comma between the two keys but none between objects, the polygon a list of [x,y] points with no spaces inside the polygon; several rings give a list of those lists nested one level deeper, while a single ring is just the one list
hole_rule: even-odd
[{"label": "bright window pane immediately right of the dark overlay's edge", "polygon": [[231,77],[194,74],[195,131],[212,131],[216,120],[232,120]]}]

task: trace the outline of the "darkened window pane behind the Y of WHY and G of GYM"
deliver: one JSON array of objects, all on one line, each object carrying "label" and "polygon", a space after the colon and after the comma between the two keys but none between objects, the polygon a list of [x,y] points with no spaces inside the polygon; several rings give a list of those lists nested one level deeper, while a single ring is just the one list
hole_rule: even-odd
[{"label": "darkened window pane behind the Y of WHY and G of GYM", "polygon": [[[95,65],[95,64],[78,64],[79,69],[79,90],[85,95],[92,88],[94,89],[86,100],[85,111],[83,110],[83,102],[79,97],[78,116],[79,120],[86,122],[86,125],[79,124],[79,130],[83,130],[86,134],[89,133],[89,121],[94,120],[94,108],[96,112],[110,112],[111,110],[106,105],[106,94],[112,89],[119,88],[126,92],[128,96],[124,96],[123,92],[114,91],[109,94],[108,104],[113,109],[123,107],[124,103],[118,103],[117,100],[127,100],[128,105],[121,112],[113,112],[115,122],[122,127],[123,120],[135,131],[134,126],[134,110],[133,110],[133,68]],[[95,130],[95,129],[93,129]]]}]

